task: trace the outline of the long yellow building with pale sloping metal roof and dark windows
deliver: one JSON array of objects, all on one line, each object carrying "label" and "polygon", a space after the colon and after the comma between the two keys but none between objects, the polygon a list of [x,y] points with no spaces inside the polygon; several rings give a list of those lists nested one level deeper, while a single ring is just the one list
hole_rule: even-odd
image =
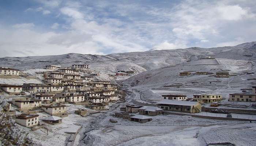
[{"label": "long yellow building with pale sloping metal roof and dark windows", "polygon": [[163,99],[157,103],[157,107],[165,111],[201,112],[202,105],[195,101],[176,101]]}]

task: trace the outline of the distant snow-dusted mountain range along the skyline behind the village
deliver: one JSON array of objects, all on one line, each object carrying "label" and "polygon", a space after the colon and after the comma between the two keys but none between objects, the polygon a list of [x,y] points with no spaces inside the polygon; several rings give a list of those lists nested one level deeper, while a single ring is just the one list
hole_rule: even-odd
[{"label": "distant snow-dusted mountain range along the skyline behind the village", "polygon": [[199,48],[191,47],[176,50],[154,50],[145,52],[128,52],[109,55],[91,55],[69,53],[63,55],[4,57],[0,66],[18,69],[43,68],[45,65],[70,66],[71,64],[90,64],[94,69],[105,68],[106,72],[133,70],[136,73],[177,65],[200,58],[214,57],[226,59],[250,60],[256,57],[256,42],[243,43],[237,46]]}]

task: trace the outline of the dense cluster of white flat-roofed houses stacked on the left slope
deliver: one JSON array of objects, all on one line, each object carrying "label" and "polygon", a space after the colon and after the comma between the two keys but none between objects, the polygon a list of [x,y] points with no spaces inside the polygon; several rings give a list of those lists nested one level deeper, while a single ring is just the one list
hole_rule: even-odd
[{"label": "dense cluster of white flat-roofed houses stacked on the left slope", "polygon": [[[19,75],[19,71],[10,68],[1,68],[1,73],[6,75]],[[1,85],[1,89],[7,93],[29,92],[27,96],[12,98],[11,103],[23,114],[16,115],[16,123],[26,127],[34,127],[39,123],[38,115],[31,114],[44,111],[51,115],[42,119],[45,123],[59,124],[62,118],[68,116],[65,105],[84,105],[92,110],[106,110],[110,102],[120,99],[121,93],[117,84],[110,81],[93,81],[93,75],[81,76],[83,69],[89,69],[89,65],[72,65],[63,68],[56,65],[47,65],[44,72],[43,84],[25,83],[23,85]],[[14,70],[15,72],[12,72]],[[28,114],[30,113],[30,114]],[[79,115],[86,115],[86,110],[78,110]]]}]

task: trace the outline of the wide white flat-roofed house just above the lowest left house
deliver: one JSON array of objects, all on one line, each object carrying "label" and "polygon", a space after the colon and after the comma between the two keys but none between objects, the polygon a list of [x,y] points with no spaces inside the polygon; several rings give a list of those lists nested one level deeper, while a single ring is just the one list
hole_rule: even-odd
[{"label": "wide white flat-roofed house just above the lowest left house", "polygon": [[21,111],[32,110],[41,107],[41,100],[15,100],[15,105]]}]

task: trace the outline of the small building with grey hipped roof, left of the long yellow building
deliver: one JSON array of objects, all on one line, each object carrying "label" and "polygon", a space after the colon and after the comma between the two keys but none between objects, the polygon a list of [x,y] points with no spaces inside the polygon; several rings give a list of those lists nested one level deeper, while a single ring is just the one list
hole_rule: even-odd
[{"label": "small building with grey hipped roof, left of the long yellow building", "polygon": [[152,107],[152,106],[144,106],[139,108],[139,114],[156,116],[156,115],[163,114],[163,109],[158,107]]}]

